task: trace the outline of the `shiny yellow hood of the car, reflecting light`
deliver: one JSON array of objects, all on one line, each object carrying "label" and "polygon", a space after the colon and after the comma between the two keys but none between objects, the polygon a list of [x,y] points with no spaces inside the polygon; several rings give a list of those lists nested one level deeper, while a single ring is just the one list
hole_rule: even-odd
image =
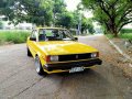
[{"label": "shiny yellow hood of the car, reflecting light", "polygon": [[36,44],[47,55],[66,55],[98,52],[96,48],[73,41],[37,42]]}]

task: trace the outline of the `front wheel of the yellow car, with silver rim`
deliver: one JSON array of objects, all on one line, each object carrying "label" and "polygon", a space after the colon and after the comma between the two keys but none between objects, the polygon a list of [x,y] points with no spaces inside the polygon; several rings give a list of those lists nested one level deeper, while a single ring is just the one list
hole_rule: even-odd
[{"label": "front wheel of the yellow car, with silver rim", "polygon": [[46,76],[47,74],[43,70],[42,68],[42,64],[40,62],[40,58],[38,56],[35,57],[35,68],[36,68],[36,73],[38,75],[43,75],[43,76]]}]

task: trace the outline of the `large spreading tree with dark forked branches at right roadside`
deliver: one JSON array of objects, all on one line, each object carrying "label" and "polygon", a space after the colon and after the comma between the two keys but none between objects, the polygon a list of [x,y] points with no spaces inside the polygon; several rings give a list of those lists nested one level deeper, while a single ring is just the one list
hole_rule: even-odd
[{"label": "large spreading tree with dark forked branches at right roadside", "polygon": [[95,20],[116,37],[120,30],[132,22],[131,0],[81,0],[86,9],[94,11]]}]

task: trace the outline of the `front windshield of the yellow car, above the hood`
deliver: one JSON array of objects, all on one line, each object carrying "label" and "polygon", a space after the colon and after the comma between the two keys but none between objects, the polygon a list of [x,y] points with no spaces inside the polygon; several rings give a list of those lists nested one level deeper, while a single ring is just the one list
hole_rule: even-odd
[{"label": "front windshield of the yellow car, above the hood", "polygon": [[67,30],[41,29],[38,31],[38,41],[72,41],[73,35]]}]

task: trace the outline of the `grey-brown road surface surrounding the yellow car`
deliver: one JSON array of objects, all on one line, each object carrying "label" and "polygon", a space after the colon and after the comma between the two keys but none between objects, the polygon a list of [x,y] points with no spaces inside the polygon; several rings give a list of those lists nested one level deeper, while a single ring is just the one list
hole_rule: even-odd
[{"label": "grey-brown road surface surrounding the yellow car", "polygon": [[103,35],[79,42],[100,51],[101,66],[76,74],[38,76],[26,45],[0,47],[0,99],[132,99],[132,79],[118,68],[122,57]]}]

